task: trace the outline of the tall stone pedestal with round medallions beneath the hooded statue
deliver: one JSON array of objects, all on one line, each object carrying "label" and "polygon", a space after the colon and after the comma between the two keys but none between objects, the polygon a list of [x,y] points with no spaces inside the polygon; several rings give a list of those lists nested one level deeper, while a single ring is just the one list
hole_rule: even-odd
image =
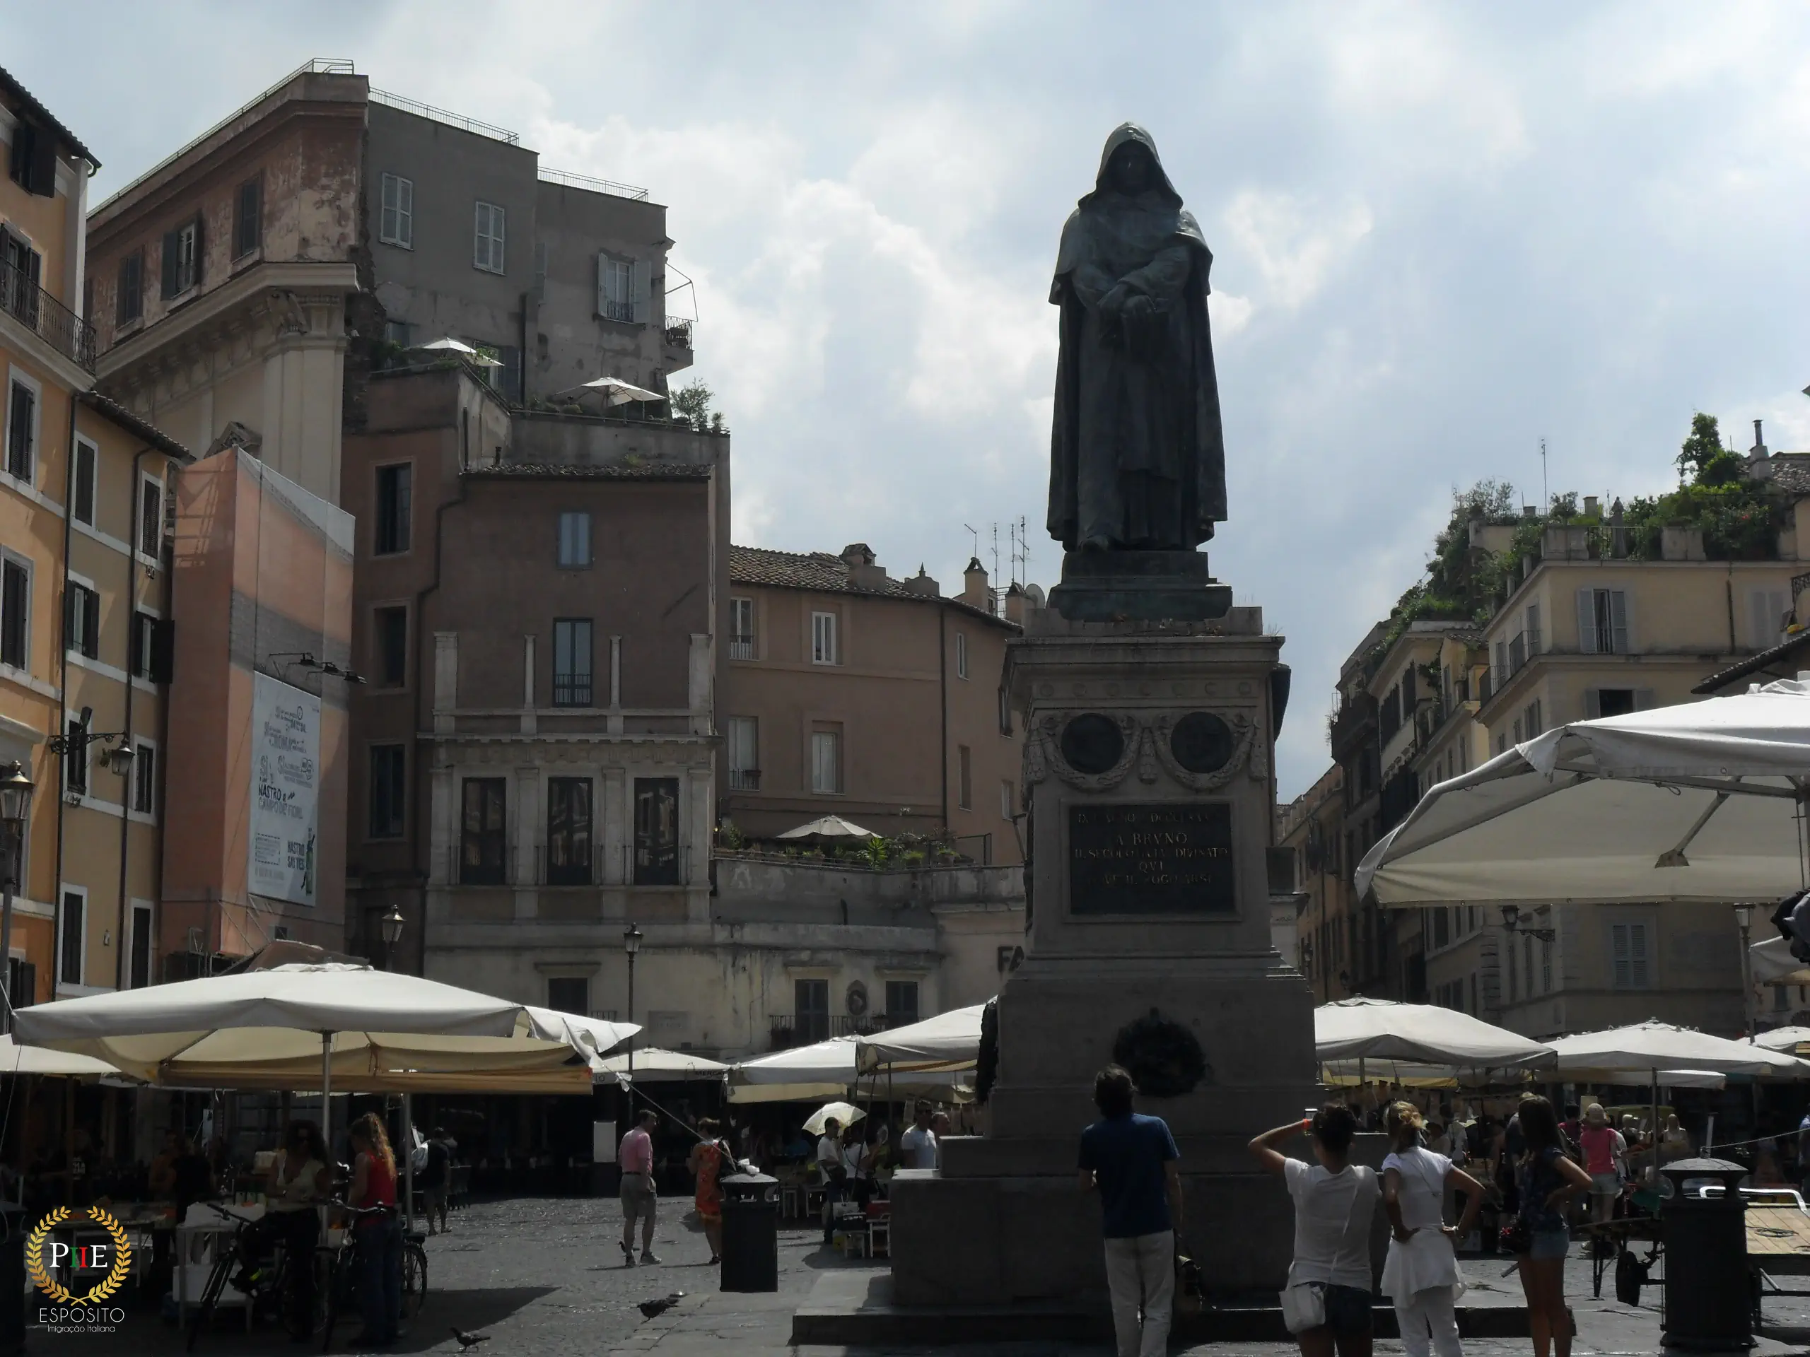
[{"label": "tall stone pedestal with round medallions beneath the hooded statue", "polygon": [[1292,1209],[1245,1142],[1319,1086],[1312,995],[1269,934],[1280,648],[1254,608],[1218,624],[1046,608],[1012,642],[1030,722],[1026,957],[999,995],[988,1136],[947,1142],[939,1176],[894,1185],[898,1303],[1104,1295],[1075,1153],[1115,1058],[1175,1133],[1207,1285],[1283,1285]]}]

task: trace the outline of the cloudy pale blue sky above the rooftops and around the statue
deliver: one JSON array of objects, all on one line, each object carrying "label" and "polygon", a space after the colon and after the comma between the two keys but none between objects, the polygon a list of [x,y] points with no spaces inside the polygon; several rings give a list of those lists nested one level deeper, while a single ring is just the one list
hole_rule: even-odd
[{"label": "cloudy pale blue sky above the rooftops and around the statue", "polygon": [[1455,487],[1654,494],[1700,409],[1810,449],[1803,5],[69,0],[0,11],[0,51],[103,161],[90,201],[315,56],[644,185],[735,541],[950,593],[994,525],[1012,574],[1021,517],[1019,575],[1059,577],[1050,273],[1142,123],[1215,255],[1209,552],[1287,637],[1283,800]]}]

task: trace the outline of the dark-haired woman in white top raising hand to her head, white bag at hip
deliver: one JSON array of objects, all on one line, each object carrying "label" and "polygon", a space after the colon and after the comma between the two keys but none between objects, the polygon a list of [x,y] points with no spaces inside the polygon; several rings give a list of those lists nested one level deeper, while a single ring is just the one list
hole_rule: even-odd
[{"label": "dark-haired woman in white top raising hand to her head, white bag at hip", "polygon": [[[1278,1125],[1251,1142],[1258,1162],[1289,1185],[1294,1198],[1294,1263],[1283,1292],[1283,1317],[1303,1357],[1370,1357],[1370,1221],[1381,1196],[1376,1171],[1350,1163],[1358,1118],[1327,1104],[1301,1122]],[[1287,1158],[1278,1145],[1307,1134],[1319,1163]],[[1301,1312],[1319,1324],[1296,1328]]]}]

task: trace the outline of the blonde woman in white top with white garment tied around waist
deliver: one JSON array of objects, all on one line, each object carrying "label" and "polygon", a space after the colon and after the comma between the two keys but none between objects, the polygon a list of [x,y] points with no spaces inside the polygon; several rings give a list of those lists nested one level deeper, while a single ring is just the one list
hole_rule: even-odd
[{"label": "blonde woman in white top with white garment tied around waist", "polygon": [[[1408,1357],[1461,1357],[1459,1323],[1452,1312],[1459,1285],[1453,1239],[1470,1234],[1482,1209],[1484,1187],[1444,1154],[1421,1145],[1421,1111],[1392,1104],[1383,1118],[1394,1151],[1383,1160],[1383,1209],[1392,1227],[1383,1261],[1383,1294],[1396,1303],[1401,1346]],[[1444,1223],[1446,1185],[1464,1192],[1464,1216]],[[1432,1343],[1428,1344],[1428,1337]]]}]

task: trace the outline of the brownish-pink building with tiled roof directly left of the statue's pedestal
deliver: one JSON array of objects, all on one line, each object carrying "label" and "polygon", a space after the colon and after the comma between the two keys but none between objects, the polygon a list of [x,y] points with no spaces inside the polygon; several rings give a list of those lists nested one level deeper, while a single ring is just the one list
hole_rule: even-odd
[{"label": "brownish-pink building with tiled roof directly left of the statue's pedestal", "polygon": [[961,595],[943,597],[921,568],[889,575],[865,543],[733,546],[722,816],[764,840],[838,814],[947,834],[983,865],[1023,861],[1024,736],[1001,675],[1032,595],[1014,590],[996,601],[970,561]]}]

